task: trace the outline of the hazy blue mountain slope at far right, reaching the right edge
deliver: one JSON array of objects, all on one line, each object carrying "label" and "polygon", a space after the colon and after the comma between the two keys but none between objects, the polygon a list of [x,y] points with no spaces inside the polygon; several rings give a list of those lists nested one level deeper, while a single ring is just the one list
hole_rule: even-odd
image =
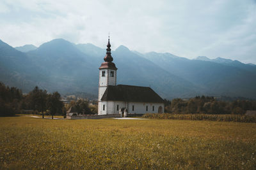
[{"label": "hazy blue mountain slope at far right, reaching the right edge", "polygon": [[235,66],[189,60],[170,53],[146,53],[145,58],[166,71],[207,89],[209,95],[256,96],[255,73]]}]

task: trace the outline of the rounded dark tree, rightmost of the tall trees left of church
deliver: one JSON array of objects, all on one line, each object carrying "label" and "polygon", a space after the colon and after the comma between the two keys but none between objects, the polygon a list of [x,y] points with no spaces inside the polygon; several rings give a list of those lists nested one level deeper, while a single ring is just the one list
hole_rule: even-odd
[{"label": "rounded dark tree, rightmost of the tall trees left of church", "polygon": [[60,94],[58,92],[49,94],[49,96],[47,97],[47,106],[51,111],[52,119],[53,119],[53,115],[55,115],[56,113],[62,112],[62,108],[64,104],[62,101],[60,101]]}]

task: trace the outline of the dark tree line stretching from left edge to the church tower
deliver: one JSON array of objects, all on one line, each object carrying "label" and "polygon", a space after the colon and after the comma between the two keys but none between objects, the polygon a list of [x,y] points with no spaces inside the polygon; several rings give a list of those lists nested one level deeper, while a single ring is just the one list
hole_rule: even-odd
[{"label": "dark tree line stretching from left edge to the church tower", "polygon": [[79,99],[64,104],[58,92],[49,93],[37,86],[28,94],[22,94],[22,90],[16,87],[5,86],[0,82],[0,116],[13,116],[16,113],[40,113],[44,118],[45,112],[50,115],[66,115],[70,107],[74,107],[77,113],[97,113],[96,105],[89,105],[88,100]]}]

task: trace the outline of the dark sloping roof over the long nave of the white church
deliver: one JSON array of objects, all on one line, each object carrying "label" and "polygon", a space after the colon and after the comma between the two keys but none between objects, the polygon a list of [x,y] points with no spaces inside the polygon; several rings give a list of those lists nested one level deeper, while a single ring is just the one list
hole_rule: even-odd
[{"label": "dark sloping roof over the long nave of the white church", "polygon": [[133,85],[109,85],[101,101],[164,103],[163,99],[150,87]]}]

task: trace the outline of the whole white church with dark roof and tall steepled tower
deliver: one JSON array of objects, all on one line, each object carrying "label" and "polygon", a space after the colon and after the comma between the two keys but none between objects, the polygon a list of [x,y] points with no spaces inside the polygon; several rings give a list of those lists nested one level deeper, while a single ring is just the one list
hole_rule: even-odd
[{"label": "whole white church with dark roof and tall steepled tower", "polygon": [[116,85],[116,66],[108,48],[104,61],[99,67],[98,115],[127,115],[163,113],[164,101],[150,87]]}]

